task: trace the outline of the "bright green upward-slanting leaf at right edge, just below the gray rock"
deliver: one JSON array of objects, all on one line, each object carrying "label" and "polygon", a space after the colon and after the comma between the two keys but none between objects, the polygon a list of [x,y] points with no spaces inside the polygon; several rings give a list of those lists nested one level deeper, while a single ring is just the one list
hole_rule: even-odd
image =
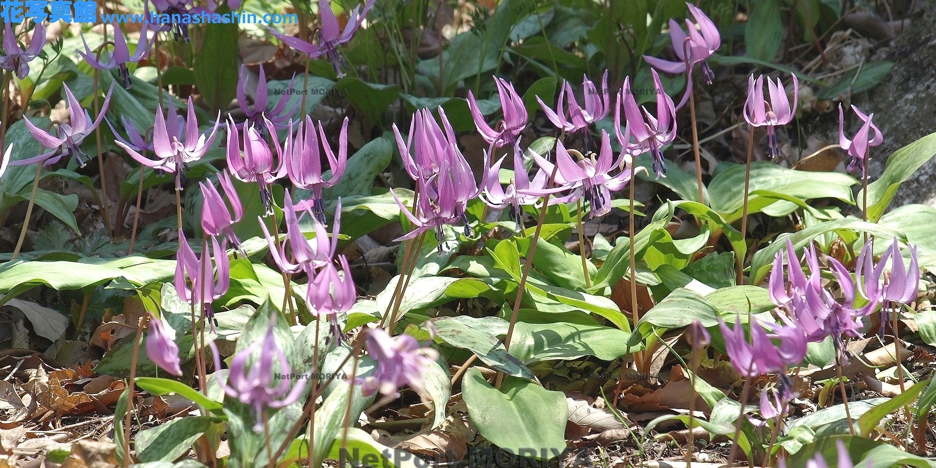
[{"label": "bright green upward-slanting leaf at right edge, just below the gray rock", "polygon": [[[881,219],[881,215],[897,194],[900,183],[913,177],[916,169],[932,159],[934,154],[936,154],[936,133],[931,133],[900,148],[887,158],[881,177],[868,184],[869,221]],[[856,200],[863,200],[863,198],[859,191]],[[858,205],[858,208],[861,208],[861,205]]]}]

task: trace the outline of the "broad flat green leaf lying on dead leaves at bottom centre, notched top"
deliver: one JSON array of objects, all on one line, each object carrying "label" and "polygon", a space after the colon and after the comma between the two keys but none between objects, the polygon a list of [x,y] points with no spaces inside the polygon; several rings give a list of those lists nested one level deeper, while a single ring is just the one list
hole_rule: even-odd
[{"label": "broad flat green leaf lying on dead leaves at bottom centre, notched top", "polygon": [[462,377],[461,396],[468,417],[495,446],[538,460],[555,458],[565,449],[569,407],[563,392],[509,376],[499,390],[473,367]]}]

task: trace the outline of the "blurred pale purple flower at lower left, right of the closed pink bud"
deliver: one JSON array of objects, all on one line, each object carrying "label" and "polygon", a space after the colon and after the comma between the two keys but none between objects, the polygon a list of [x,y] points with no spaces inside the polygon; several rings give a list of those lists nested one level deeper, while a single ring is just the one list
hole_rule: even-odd
[{"label": "blurred pale purple flower at lower left, right of the closed pink bud", "polygon": [[[271,315],[270,326],[262,342],[252,343],[234,355],[227,374],[227,384],[221,381],[220,376],[218,377],[218,383],[221,388],[224,388],[227,396],[254,408],[256,421],[254,431],[257,432],[263,431],[263,411],[266,408],[282,408],[298,402],[309,379],[308,373],[305,373],[300,375],[299,382],[292,388],[289,388],[289,378],[278,378],[280,382],[273,385],[274,374],[279,376],[292,374],[283,349],[276,344],[274,333],[276,319],[277,314]],[[221,358],[218,357],[217,347],[214,343],[210,343],[209,346],[212,348],[215,369],[221,369]],[[248,370],[247,361],[254,357],[257,349],[260,350],[260,355]]]}]

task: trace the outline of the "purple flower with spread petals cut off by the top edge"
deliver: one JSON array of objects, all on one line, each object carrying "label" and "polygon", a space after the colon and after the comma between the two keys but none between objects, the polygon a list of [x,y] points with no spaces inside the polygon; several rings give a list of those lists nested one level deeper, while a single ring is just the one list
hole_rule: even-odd
[{"label": "purple flower with spread petals cut off by the top edge", "polygon": [[285,42],[286,45],[305,53],[309,58],[317,58],[324,53],[326,58],[329,59],[329,62],[331,62],[331,65],[335,66],[335,74],[338,75],[338,78],[343,78],[344,72],[342,71],[342,67],[347,67],[347,64],[344,63],[344,58],[342,58],[342,55],[338,52],[338,46],[351,41],[354,32],[358,30],[360,24],[364,22],[364,18],[367,17],[367,12],[373,7],[373,1],[374,0],[367,0],[363,10],[361,10],[358,5],[358,7],[355,7],[355,9],[351,11],[351,14],[348,15],[348,21],[344,25],[344,32],[341,30],[334,12],[331,11],[331,2],[329,0],[321,1],[318,4],[318,17],[322,22],[322,30],[319,33],[318,45],[310,44],[297,37],[282,35],[269,26],[267,29],[270,30],[273,36]]}]

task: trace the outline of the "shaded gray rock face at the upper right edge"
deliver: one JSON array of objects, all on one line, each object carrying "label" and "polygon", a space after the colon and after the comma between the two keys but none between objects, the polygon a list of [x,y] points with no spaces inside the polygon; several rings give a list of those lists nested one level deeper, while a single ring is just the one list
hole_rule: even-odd
[{"label": "shaded gray rock face at the upper right edge", "polygon": [[[874,123],[885,135],[871,150],[872,176],[881,173],[887,156],[936,132],[936,7],[923,9],[894,41],[887,57],[896,64],[890,75],[869,92]],[[900,186],[891,206],[907,203],[936,207],[936,159]]]}]

